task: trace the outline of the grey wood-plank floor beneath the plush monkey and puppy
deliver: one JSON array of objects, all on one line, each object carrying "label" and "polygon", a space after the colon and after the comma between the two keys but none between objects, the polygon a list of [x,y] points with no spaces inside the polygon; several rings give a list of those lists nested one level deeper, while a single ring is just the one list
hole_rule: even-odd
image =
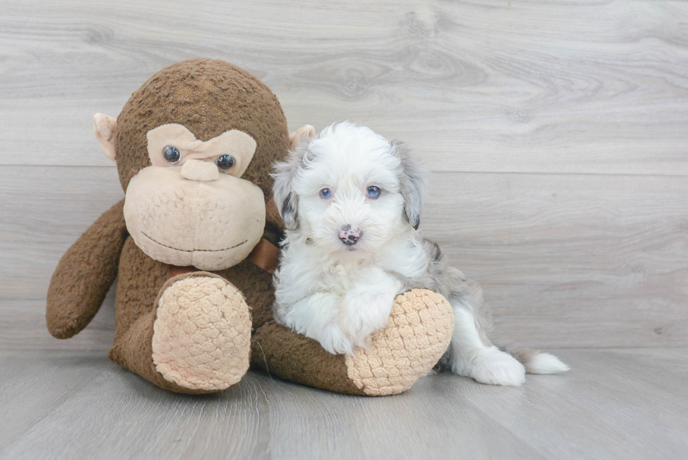
[{"label": "grey wood-plank floor beneath the plush monkey and puppy", "polygon": [[685,459],[688,349],[567,349],[520,388],[426,376],[352,397],[249,372],[168,393],[105,353],[0,352],[2,459]]}]

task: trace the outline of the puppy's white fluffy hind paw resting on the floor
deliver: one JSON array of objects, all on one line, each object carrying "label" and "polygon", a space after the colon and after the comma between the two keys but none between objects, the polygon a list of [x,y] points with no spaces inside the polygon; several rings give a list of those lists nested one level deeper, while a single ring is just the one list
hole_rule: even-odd
[{"label": "puppy's white fluffy hind paw resting on the floor", "polygon": [[469,376],[488,385],[521,386],[526,381],[526,369],[508,353],[496,347],[487,348],[475,357],[468,368]]}]

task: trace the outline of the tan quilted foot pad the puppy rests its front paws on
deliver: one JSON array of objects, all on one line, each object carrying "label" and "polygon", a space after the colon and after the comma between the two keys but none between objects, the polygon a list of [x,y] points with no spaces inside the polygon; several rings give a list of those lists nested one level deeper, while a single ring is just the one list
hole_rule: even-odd
[{"label": "tan quilted foot pad the puppy rests its front paws on", "polygon": [[443,296],[427,289],[399,294],[387,327],[346,358],[348,377],[366,395],[402,393],[437,364],[453,332],[454,313]]}]

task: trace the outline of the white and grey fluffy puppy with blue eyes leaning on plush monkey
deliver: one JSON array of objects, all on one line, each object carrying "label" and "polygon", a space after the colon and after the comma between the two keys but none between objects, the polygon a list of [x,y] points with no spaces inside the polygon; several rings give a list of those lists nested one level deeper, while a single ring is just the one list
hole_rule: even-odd
[{"label": "white and grey fluffy puppy with blue eyes leaning on plush monkey", "polygon": [[418,231],[423,172],[400,143],[364,126],[333,124],[300,140],[273,175],[287,229],[274,276],[277,322],[350,355],[384,329],[397,294],[425,287],[454,308],[443,358],[451,372],[517,386],[526,372],[569,369],[548,353],[493,346],[480,287]]}]

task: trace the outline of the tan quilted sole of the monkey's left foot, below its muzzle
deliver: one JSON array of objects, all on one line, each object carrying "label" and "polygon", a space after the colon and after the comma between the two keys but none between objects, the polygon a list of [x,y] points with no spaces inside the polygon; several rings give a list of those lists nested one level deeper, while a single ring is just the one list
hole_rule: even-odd
[{"label": "tan quilted sole of the monkey's left foot, below its muzzle", "polygon": [[157,371],[183,388],[219,391],[238,383],[251,351],[244,296],[221,277],[173,282],[159,298],[152,351]]}]

